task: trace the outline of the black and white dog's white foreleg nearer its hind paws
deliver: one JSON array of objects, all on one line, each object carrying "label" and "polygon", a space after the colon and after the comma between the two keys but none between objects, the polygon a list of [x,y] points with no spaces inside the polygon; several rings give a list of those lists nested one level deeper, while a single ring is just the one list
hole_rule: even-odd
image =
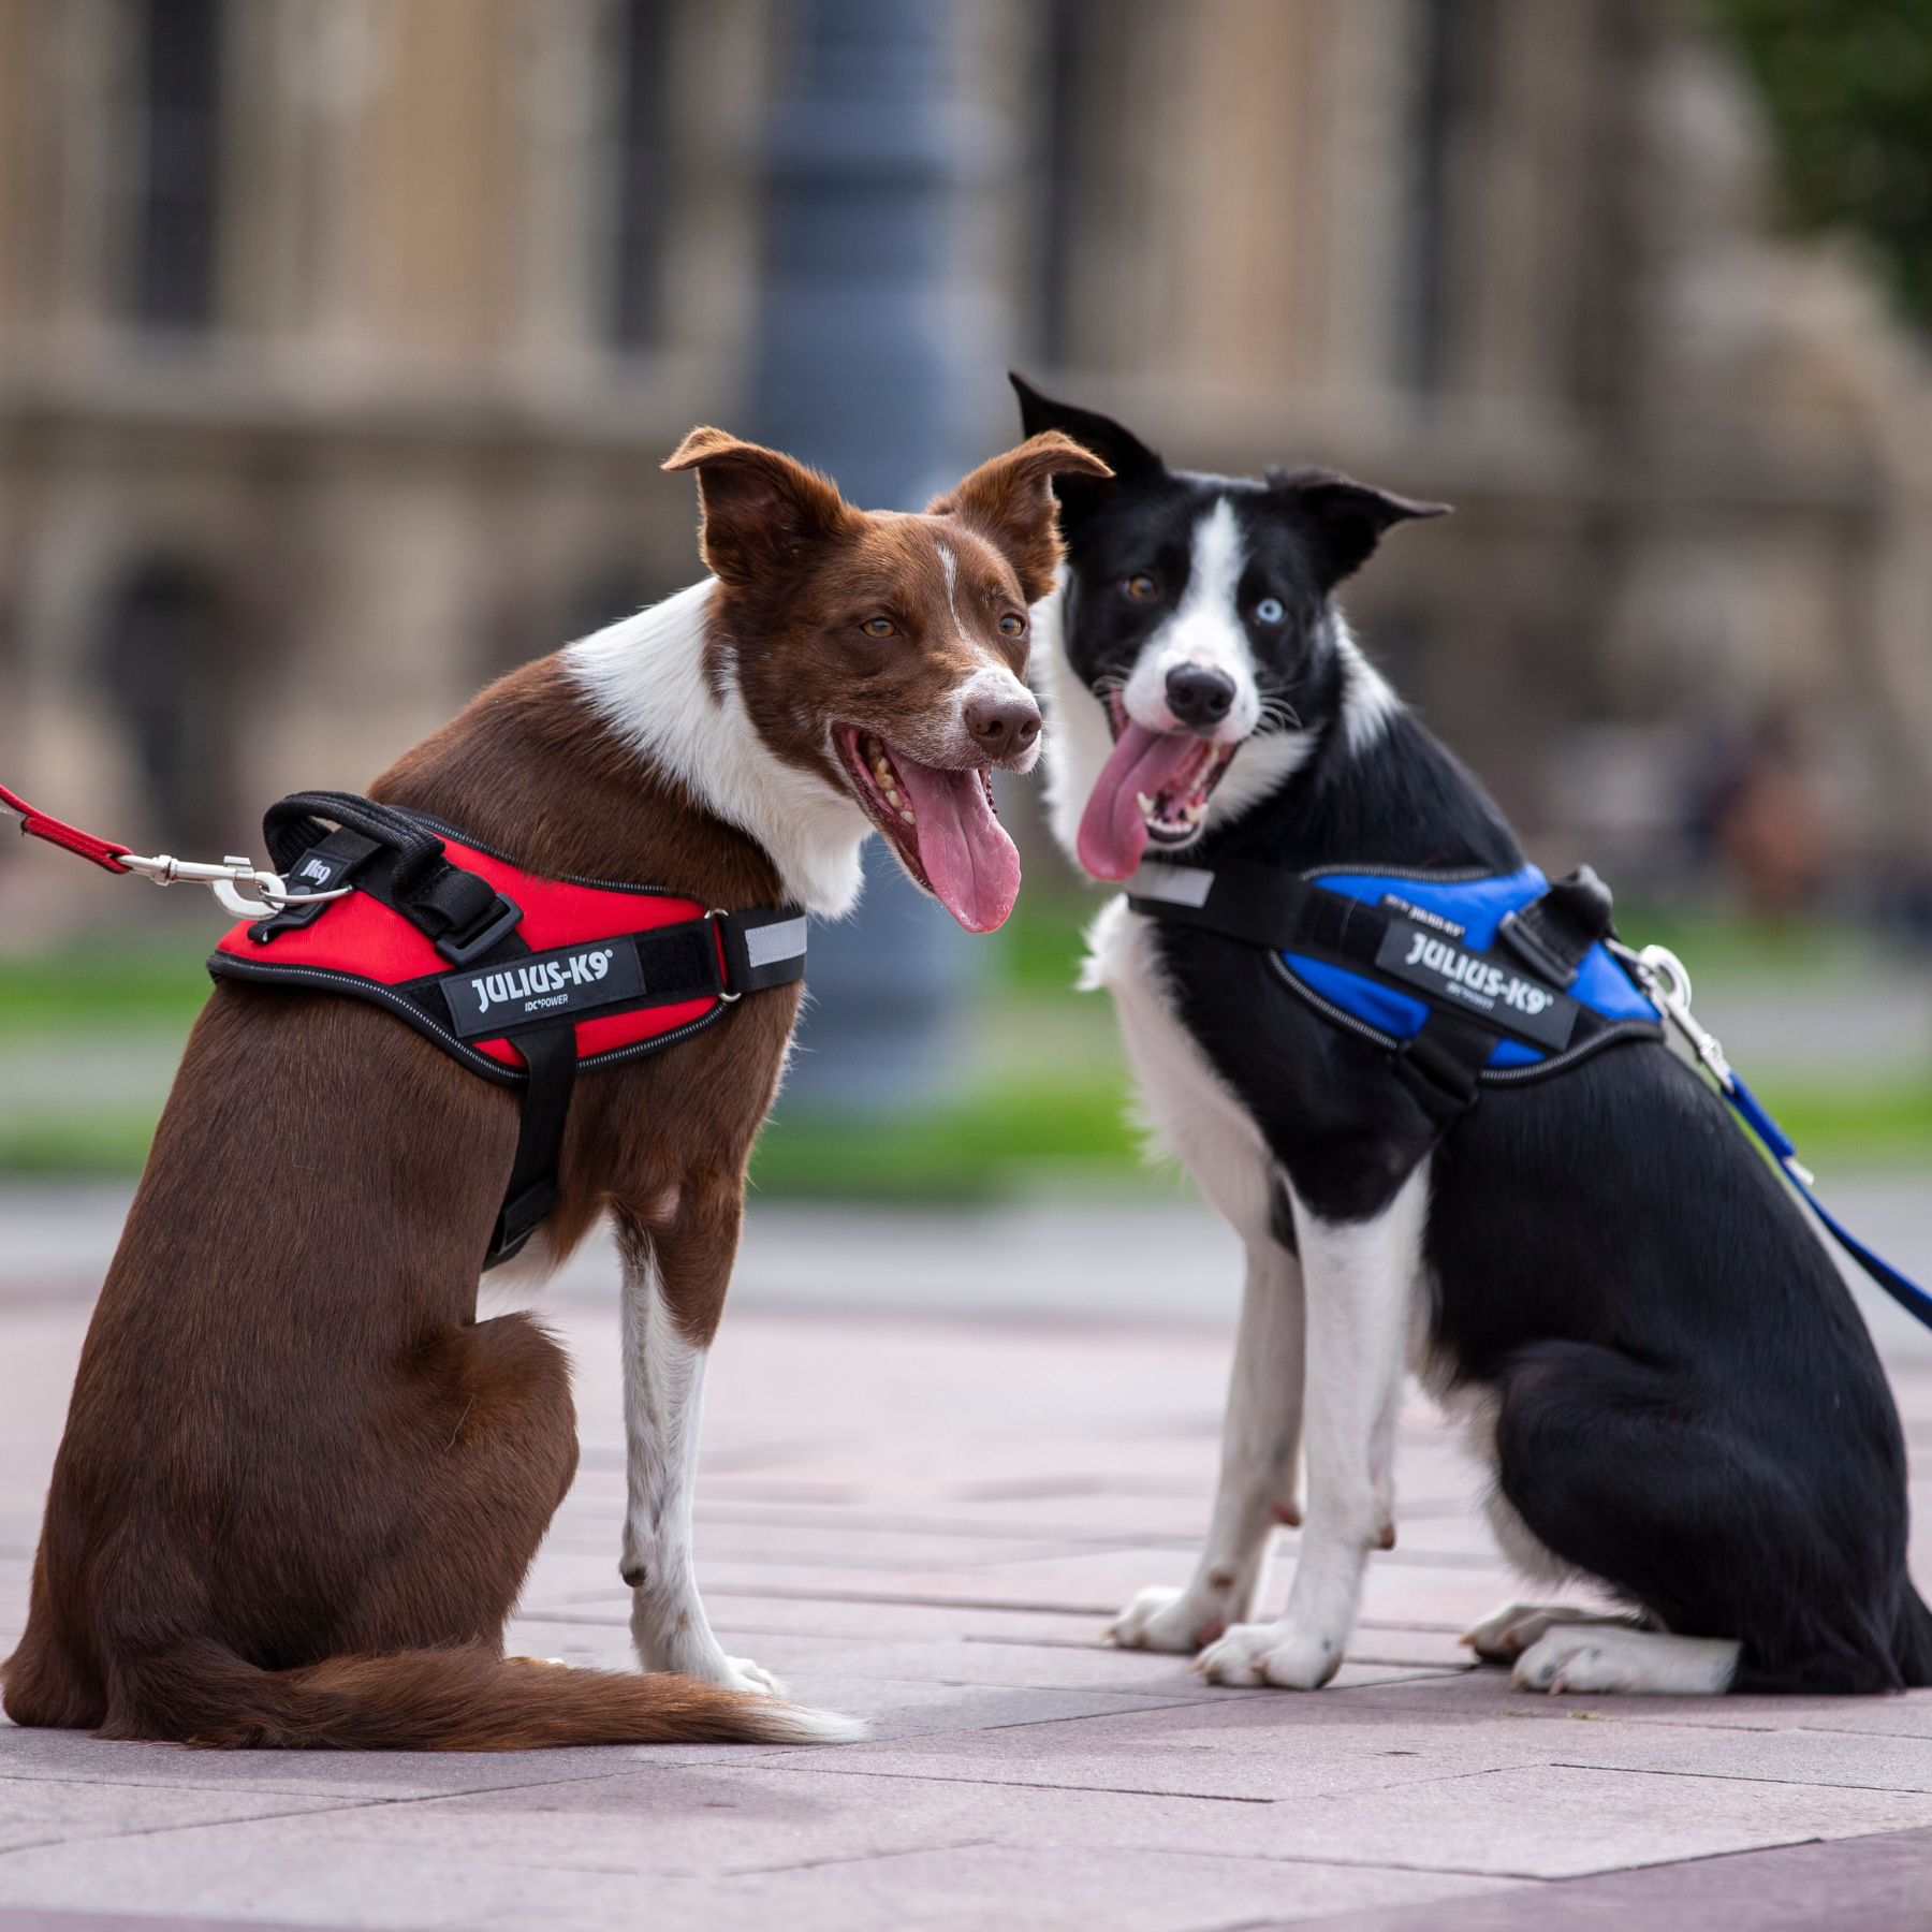
[{"label": "black and white dog's white foreleg nearer its hind paws", "polygon": [[1395,1532],[1391,1445],[1410,1296],[1422,1271],[1428,1163],[1374,1221],[1294,1202],[1308,1306],[1308,1511],[1289,1607],[1202,1652],[1213,1683],[1314,1690],[1341,1667],[1368,1551]]}]

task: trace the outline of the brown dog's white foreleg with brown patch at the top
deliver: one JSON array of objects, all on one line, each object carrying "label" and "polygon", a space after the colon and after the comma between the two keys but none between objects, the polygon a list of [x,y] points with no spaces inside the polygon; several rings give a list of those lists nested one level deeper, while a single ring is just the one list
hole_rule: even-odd
[{"label": "brown dog's white foreleg with brown patch at the top", "polygon": [[[630,1634],[647,1671],[678,1671],[730,1690],[779,1690],[769,1671],[724,1656],[699,1602],[692,1559],[705,1360],[738,1252],[736,1204],[728,1229],[724,1219],[707,1215],[709,1240],[694,1240],[686,1227],[657,1231],[649,1242],[622,1242],[630,1492],[622,1571],[632,1588]],[[692,1337],[694,1327],[701,1339]]]}]

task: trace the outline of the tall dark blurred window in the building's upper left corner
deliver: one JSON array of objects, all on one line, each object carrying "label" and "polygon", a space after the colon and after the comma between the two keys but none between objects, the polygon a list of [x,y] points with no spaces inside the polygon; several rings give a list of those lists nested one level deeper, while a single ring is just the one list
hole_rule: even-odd
[{"label": "tall dark blurred window in the building's upper left corner", "polygon": [[141,151],[129,309],[151,328],[214,317],[222,0],[141,0]]}]

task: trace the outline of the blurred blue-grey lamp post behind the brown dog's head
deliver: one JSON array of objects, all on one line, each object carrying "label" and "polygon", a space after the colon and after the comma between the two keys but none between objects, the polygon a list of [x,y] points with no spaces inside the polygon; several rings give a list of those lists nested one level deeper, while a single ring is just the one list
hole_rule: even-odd
[{"label": "blurred blue-grey lamp post behind the brown dog's head", "polygon": [[[964,185],[956,33],[974,0],[794,0],[767,147],[752,435],[869,510],[962,468],[952,290]],[[866,844],[854,918],[815,922],[788,1092],[891,1109],[951,1059],[972,941]]]}]

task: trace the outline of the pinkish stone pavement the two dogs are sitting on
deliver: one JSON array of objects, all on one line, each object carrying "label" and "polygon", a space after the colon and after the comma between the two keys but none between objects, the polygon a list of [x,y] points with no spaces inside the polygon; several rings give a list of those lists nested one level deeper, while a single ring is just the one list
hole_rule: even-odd
[{"label": "pinkish stone pavement the two dogs are sitting on", "polygon": [[[0,1192],[0,1654],[124,1204]],[[1920,1182],[1862,1204],[1907,1265],[1932,1246]],[[487,1312],[506,1294],[566,1339],[583,1439],[510,1644],[624,1665],[609,1250]],[[1932,1924],[1932,1692],[1511,1692],[1455,1642],[1517,1584],[1420,1399],[1335,1687],[1101,1646],[1186,1577],[1231,1306],[1229,1238],[1184,1208],[757,1209],[709,1387],[705,1598],[728,1650],[869,1741],[301,1756],[0,1727],[0,1932]],[[1932,1356],[1891,1370],[1924,1474]]]}]

